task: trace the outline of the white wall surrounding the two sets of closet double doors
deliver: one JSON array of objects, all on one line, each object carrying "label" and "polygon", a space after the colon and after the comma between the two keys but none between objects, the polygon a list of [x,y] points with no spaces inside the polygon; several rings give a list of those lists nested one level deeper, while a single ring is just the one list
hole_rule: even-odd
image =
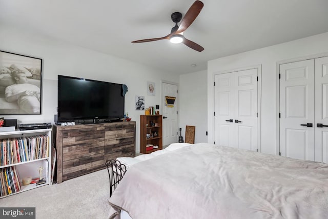
[{"label": "white wall surrounding the two sets of closet double doors", "polygon": [[328,55],[328,32],[275,46],[226,56],[208,62],[208,130],[214,141],[213,75],[249,66],[262,66],[261,151],[276,154],[277,146],[277,63]]}]

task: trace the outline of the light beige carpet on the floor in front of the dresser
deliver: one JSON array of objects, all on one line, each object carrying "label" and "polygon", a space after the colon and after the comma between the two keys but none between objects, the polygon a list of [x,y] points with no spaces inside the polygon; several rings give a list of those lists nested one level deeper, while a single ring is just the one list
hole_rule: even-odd
[{"label": "light beige carpet on the floor in front of the dresser", "polygon": [[108,218],[107,169],[0,199],[1,207],[35,207],[36,218]]}]

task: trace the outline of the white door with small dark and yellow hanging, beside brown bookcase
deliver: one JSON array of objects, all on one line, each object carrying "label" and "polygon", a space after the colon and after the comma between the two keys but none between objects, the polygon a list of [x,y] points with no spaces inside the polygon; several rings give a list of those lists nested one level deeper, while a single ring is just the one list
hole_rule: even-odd
[{"label": "white door with small dark and yellow hanging, beside brown bookcase", "polygon": [[[165,106],[165,96],[176,97],[173,107]],[[162,83],[163,146],[177,142],[177,85]]]}]

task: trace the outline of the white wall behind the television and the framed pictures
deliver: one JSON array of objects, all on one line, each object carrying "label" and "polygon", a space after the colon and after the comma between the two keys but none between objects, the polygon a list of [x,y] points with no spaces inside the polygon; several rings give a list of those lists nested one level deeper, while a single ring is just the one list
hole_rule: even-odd
[{"label": "white wall behind the television and the framed pictures", "polygon": [[[46,27],[45,27],[46,28]],[[3,51],[43,59],[43,98],[41,115],[0,115],[19,123],[54,122],[57,107],[57,75],[68,75],[99,81],[126,84],[125,110],[136,121],[136,152],[139,152],[139,115],[135,95],[145,96],[146,106],[160,105],[161,80],[178,82],[179,76],[125,59],[81,48],[29,31],[1,26],[0,48]],[[147,81],[155,82],[156,95],[147,95]]]}]

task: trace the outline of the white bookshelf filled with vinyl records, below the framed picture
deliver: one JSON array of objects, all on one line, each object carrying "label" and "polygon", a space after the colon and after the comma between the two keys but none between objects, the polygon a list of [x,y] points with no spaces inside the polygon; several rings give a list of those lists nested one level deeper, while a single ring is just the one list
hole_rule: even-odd
[{"label": "white bookshelf filled with vinyl records, below the framed picture", "polygon": [[[0,198],[51,184],[51,131],[0,132]],[[23,185],[23,178],[39,178],[40,173],[45,183]]]}]

